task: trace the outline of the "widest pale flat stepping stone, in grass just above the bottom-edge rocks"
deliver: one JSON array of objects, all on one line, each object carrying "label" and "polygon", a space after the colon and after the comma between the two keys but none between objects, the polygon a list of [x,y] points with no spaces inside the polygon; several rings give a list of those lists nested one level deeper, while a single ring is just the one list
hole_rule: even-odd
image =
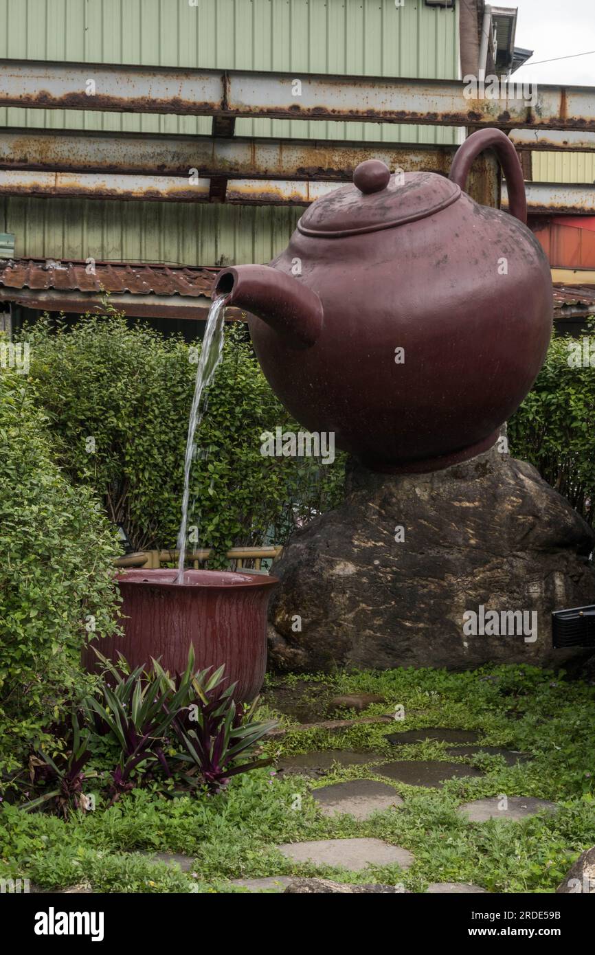
[{"label": "widest pale flat stepping stone, in grass just above the bottom-edge rocks", "polygon": [[408,869],[414,857],[407,849],[389,845],[379,838],[328,838],[313,842],[284,842],[277,848],[294,862],[340,865],[358,872],[372,865],[400,865]]}]

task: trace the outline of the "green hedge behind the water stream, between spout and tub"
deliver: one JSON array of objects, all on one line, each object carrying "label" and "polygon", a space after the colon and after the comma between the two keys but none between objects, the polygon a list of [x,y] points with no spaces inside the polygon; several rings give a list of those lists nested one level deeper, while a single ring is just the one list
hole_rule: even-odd
[{"label": "green hedge behind the water stream, between spout and tub", "polygon": [[[59,463],[96,490],[136,547],[175,547],[200,342],[189,347],[117,314],[74,329],[45,319],[23,336]],[[285,541],[296,520],[340,499],[340,458],[321,466],[261,456],[261,435],[277,426],[299,428],[268,387],[245,330],[228,327],[198,432],[189,520],[220,562],[230,546]]]}]

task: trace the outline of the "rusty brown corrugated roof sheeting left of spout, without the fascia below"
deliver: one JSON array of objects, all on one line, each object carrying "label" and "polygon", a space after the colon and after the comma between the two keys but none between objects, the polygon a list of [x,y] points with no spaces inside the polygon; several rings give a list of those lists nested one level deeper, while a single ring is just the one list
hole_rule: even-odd
[{"label": "rusty brown corrugated roof sheeting left of spout, without the fascia below", "polygon": [[209,296],[217,268],[172,268],[169,265],[14,261],[0,263],[0,286],[54,288],[60,291],[129,292],[132,295]]}]

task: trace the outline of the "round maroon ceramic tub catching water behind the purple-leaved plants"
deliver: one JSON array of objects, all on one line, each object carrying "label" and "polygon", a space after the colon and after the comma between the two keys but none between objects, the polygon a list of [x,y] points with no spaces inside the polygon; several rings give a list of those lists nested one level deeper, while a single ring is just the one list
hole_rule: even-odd
[{"label": "round maroon ceramic tub catching water behind the purple-leaved plants", "polygon": [[[196,668],[225,665],[225,686],[237,681],[236,701],[253,700],[266,671],[266,610],[278,583],[265,574],[217,570],[129,570],[118,574],[124,615],[123,638],[96,642],[108,659],[121,653],[132,668],[159,659],[170,673],[186,668],[194,647]],[[91,647],[83,664],[96,668]]]}]

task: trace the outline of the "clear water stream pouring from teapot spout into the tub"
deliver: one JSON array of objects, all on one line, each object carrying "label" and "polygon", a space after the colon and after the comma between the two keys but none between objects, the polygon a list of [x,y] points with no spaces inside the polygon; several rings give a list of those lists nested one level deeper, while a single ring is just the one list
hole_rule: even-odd
[{"label": "clear water stream pouring from teapot spout into the tub", "polygon": [[188,502],[190,499],[190,471],[192,468],[192,458],[194,456],[194,435],[202,419],[202,412],[200,411],[202,393],[212,382],[215,370],[223,354],[224,303],[225,297],[222,295],[216,298],[211,308],[209,308],[206,329],[204,329],[204,338],[202,339],[201,357],[199,359],[199,367],[197,368],[194,396],[192,398],[190,419],[188,421],[186,454],[184,456],[184,489],[181,498],[181,524],[180,531],[178,532],[178,551],[180,556],[178,558],[176,584],[183,583],[184,561],[186,557],[186,534],[188,528]]}]

